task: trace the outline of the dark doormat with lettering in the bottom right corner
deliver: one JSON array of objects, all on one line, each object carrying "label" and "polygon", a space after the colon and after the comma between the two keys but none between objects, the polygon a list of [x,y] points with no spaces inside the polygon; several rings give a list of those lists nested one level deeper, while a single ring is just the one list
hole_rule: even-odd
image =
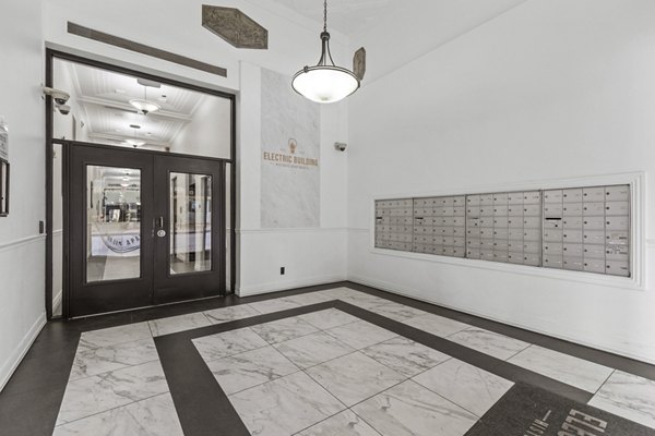
[{"label": "dark doormat with lettering in the bottom right corner", "polygon": [[655,436],[655,429],[525,384],[516,384],[466,436]]}]

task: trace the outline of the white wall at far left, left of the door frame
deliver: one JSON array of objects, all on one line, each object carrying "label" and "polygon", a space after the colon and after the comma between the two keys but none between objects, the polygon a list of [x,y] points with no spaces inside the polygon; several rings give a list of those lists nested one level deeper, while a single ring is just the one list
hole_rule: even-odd
[{"label": "white wall at far left, left of the door frame", "polygon": [[[9,125],[10,215],[0,218],[0,389],[45,324],[41,2],[2,4],[0,114]],[[7,19],[11,17],[11,20]]]}]

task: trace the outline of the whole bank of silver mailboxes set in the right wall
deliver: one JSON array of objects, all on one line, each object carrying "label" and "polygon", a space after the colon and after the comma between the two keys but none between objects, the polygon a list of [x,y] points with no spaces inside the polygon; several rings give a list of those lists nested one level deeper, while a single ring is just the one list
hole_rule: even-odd
[{"label": "whole bank of silver mailboxes set in the right wall", "polygon": [[630,185],[374,202],[374,245],[630,276]]}]

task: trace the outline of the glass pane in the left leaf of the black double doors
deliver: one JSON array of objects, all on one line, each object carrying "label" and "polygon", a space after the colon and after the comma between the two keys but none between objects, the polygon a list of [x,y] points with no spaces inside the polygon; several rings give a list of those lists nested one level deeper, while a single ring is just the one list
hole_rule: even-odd
[{"label": "glass pane in the left leaf of the black double doors", "polygon": [[141,170],[86,167],[86,282],[141,277]]}]

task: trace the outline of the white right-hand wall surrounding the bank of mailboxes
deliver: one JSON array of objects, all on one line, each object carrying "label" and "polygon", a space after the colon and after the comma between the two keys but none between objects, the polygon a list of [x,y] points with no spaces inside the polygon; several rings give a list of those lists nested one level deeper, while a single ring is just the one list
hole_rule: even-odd
[{"label": "white right-hand wall surrounding the bank of mailboxes", "polygon": [[[349,279],[655,362],[654,19],[650,0],[529,0],[366,84],[349,100]],[[632,171],[648,175],[642,290],[371,250],[374,196]]]}]

